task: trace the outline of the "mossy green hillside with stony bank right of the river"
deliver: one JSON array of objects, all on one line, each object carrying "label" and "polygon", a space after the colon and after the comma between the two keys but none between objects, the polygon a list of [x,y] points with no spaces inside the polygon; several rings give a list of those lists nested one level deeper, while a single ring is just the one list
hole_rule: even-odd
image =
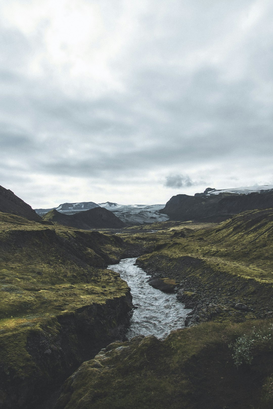
[{"label": "mossy green hillside with stony bank right of the river", "polygon": [[[137,263],[152,276],[179,280],[180,299],[189,308],[213,300],[221,309],[212,314],[200,310],[202,315],[220,321],[266,317],[273,310],[272,214],[272,209],[244,212],[184,237],[171,236],[173,229],[168,229],[161,234],[165,245],[161,239]],[[194,294],[187,297],[189,291]],[[247,304],[248,310],[237,311],[236,303]]]}]

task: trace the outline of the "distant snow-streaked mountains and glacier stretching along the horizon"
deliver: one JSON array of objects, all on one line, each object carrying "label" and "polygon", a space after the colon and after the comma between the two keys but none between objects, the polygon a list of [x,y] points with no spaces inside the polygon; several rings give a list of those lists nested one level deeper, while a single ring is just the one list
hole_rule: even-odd
[{"label": "distant snow-streaked mountains and glacier stretching along the horizon", "polygon": [[[273,185],[214,189],[208,187],[194,196],[176,195],[166,205],[120,205],[115,202],[63,203],[54,208],[65,215],[94,208],[115,214],[127,226],[171,220],[219,222],[245,210],[273,207]],[[43,216],[52,209],[35,209]]]}]

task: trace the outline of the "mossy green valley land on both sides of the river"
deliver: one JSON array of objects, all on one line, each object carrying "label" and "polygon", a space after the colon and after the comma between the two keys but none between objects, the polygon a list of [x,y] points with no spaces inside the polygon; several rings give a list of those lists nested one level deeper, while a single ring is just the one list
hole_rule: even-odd
[{"label": "mossy green valley land on both sides of the river", "polygon": [[[56,409],[272,408],[273,209],[113,235],[3,214],[2,408],[35,407],[32,380],[52,390],[54,371],[64,379],[89,359],[90,336],[103,348],[68,377]],[[122,339],[129,288],[105,267],[124,257],[176,283],[190,328]]]}]

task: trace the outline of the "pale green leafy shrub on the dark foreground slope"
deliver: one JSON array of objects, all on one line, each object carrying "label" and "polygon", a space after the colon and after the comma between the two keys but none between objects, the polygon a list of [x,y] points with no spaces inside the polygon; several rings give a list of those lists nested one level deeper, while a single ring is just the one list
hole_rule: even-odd
[{"label": "pale green leafy shrub on the dark foreground slope", "polygon": [[269,346],[272,333],[273,324],[270,324],[265,331],[256,330],[256,328],[253,327],[250,335],[244,334],[237,338],[234,344],[229,344],[229,348],[233,348],[234,351],[232,358],[234,359],[235,366],[238,368],[238,366],[243,363],[250,365],[253,360],[253,349],[256,346],[259,346],[259,348]]}]

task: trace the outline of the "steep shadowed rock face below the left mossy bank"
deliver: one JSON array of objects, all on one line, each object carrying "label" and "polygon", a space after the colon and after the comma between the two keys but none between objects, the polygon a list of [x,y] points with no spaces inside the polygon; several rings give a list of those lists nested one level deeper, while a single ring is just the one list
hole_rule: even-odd
[{"label": "steep shadowed rock face below the left mossy bank", "polygon": [[[29,354],[27,376],[5,375],[0,370],[0,408],[36,408],[79,364],[94,357],[109,342],[122,340],[129,325],[131,301],[127,290],[105,303],[62,312],[30,328],[25,345],[25,353]],[[14,339],[10,337],[9,342]]]}]

